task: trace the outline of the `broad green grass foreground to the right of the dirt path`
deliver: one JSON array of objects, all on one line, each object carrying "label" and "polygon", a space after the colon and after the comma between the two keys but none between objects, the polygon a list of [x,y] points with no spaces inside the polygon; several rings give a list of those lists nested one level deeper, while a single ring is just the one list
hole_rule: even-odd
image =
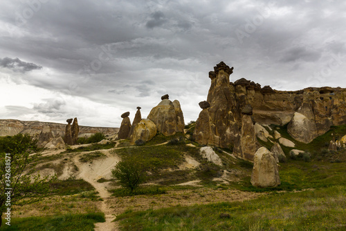
[{"label": "broad green grass foreground to the right of the dirt path", "polygon": [[345,230],[346,187],[117,216],[121,230]]}]

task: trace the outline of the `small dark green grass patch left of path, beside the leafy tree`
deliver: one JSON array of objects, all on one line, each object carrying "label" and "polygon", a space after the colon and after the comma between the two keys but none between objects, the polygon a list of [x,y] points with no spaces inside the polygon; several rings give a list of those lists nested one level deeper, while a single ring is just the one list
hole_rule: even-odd
[{"label": "small dark green grass patch left of path, beside the leafy tree", "polygon": [[95,188],[85,180],[56,180],[49,185],[51,194],[66,196],[91,191]]}]

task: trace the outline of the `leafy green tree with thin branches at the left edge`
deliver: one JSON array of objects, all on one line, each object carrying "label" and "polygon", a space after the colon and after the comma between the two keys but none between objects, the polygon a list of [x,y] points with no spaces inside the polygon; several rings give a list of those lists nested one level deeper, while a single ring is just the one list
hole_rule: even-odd
[{"label": "leafy green tree with thin branches at the left edge", "polygon": [[54,178],[30,176],[35,171],[38,155],[36,141],[26,134],[0,137],[0,226],[2,214],[9,221],[12,205],[25,205],[39,200],[48,192]]}]

